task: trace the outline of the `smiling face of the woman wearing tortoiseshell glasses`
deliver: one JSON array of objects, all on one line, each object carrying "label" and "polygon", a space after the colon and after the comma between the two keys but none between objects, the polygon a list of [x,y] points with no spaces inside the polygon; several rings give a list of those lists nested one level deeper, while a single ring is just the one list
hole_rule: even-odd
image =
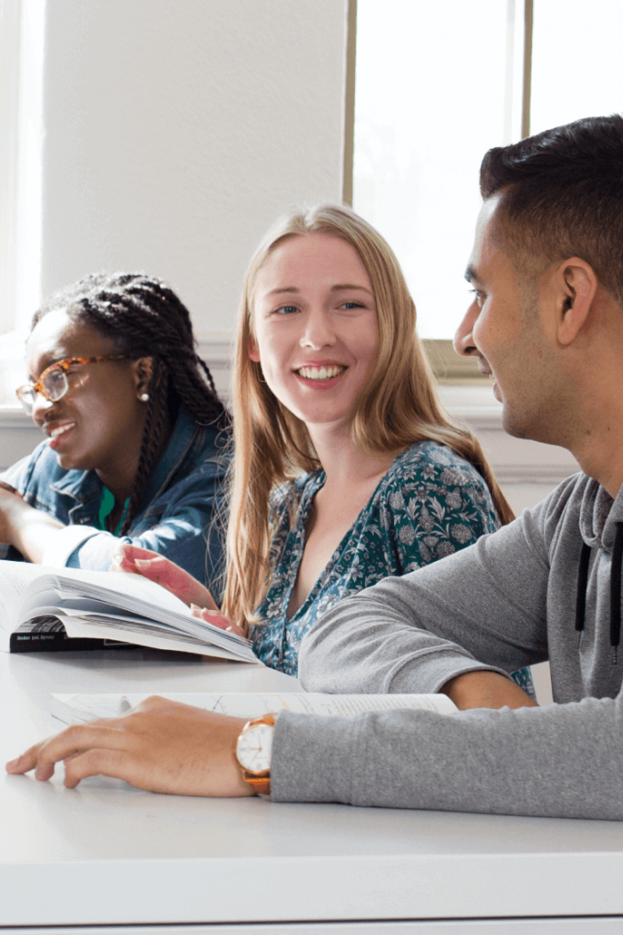
[{"label": "smiling face of the woman wearing tortoiseshell glasses", "polygon": [[[64,310],[45,315],[28,339],[26,364],[35,381],[46,367],[70,357],[106,356],[114,342]],[[143,358],[143,361],[149,358]],[[134,480],[145,422],[145,367],[119,360],[72,365],[69,390],[50,402],[36,396],[33,420],[50,438],[62,468],[95,470],[111,489]]]}]

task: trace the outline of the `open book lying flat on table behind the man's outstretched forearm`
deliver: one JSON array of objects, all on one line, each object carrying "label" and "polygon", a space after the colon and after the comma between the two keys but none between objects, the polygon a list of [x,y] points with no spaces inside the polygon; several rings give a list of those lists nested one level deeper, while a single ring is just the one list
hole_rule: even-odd
[{"label": "open book lying flat on table behind the man's outstretched forearm", "polygon": [[[120,717],[149,695],[51,695],[50,713],[64,724],[85,724],[96,717]],[[163,695],[172,701],[233,717],[262,717],[276,711],[354,717],[366,711],[412,708],[452,714],[458,709],[447,695],[319,695],[313,692]]]}]

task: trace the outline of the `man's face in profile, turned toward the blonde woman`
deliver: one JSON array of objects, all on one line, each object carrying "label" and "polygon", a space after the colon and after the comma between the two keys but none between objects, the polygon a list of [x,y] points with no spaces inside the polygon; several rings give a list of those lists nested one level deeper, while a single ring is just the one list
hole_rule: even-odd
[{"label": "man's face in profile, turned toward the blonde woman", "polygon": [[546,441],[556,361],[542,325],[539,277],[520,281],[513,261],[493,237],[499,202],[499,196],[489,198],[478,217],[465,274],[474,301],[454,347],[464,356],[477,356],[481,371],[493,379],[493,394],[503,404],[504,429],[518,438]]}]

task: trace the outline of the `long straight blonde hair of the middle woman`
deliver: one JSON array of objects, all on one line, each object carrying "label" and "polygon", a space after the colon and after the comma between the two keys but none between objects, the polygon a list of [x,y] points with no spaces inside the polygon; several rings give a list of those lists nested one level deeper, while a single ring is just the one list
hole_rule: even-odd
[{"label": "long straight blonde hair of the middle woman", "polygon": [[234,468],[227,530],[224,613],[248,627],[271,579],[269,499],[276,484],[320,467],[307,427],[276,398],[249,358],[253,290],[268,254],[288,237],[312,233],[346,240],[359,253],[375,294],[379,348],[361,393],[353,438],[362,452],[398,452],[416,441],[438,441],[482,475],[503,523],[514,514],[474,434],[454,424],[437,396],[431,367],[416,334],[416,307],[389,245],[369,223],[342,205],[319,205],[280,218],[249,266],[240,300],[234,362]]}]

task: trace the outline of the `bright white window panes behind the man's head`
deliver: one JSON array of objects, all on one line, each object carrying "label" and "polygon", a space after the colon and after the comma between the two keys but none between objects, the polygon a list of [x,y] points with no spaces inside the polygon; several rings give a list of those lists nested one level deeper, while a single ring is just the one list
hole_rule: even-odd
[{"label": "bright white window panes behind the man's head", "polygon": [[[358,0],[353,207],[397,252],[422,338],[452,338],[478,167],[530,133],[623,110],[620,0]],[[530,65],[530,58],[529,58]],[[524,130],[525,122],[524,122]]]}]

